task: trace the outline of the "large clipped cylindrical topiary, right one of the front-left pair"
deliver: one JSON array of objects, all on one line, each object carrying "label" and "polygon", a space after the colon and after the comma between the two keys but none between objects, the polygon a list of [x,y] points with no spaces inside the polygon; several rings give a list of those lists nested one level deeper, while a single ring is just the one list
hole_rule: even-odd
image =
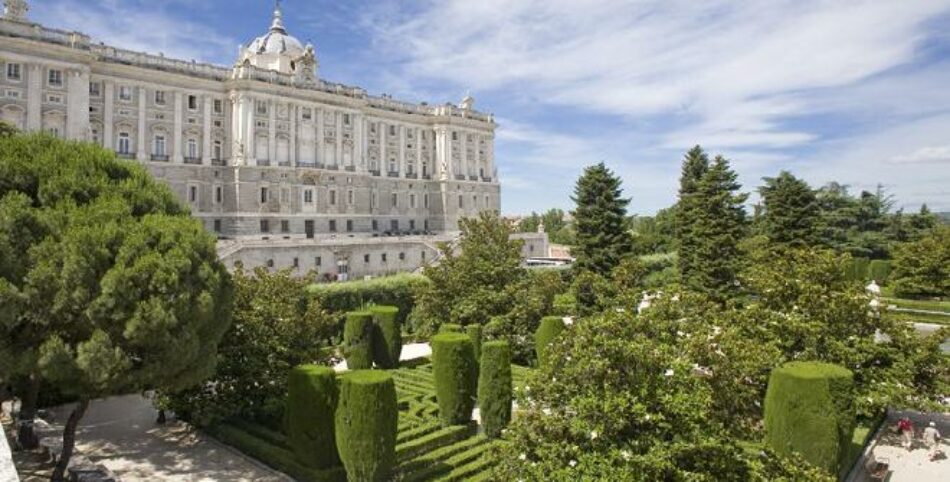
[{"label": "large clipped cylindrical topiary, right one of the front-left pair", "polygon": [[340,376],[336,445],[350,482],[390,480],[396,463],[396,385],[389,373],[356,370]]}]

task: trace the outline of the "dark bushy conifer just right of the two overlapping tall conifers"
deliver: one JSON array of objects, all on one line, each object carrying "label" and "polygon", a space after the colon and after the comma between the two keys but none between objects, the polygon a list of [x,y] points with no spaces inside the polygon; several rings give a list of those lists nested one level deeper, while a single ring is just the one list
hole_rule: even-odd
[{"label": "dark bushy conifer just right of the two overlapping tall conifers", "polygon": [[778,247],[813,246],[818,242],[818,199],[803,180],[788,171],[763,178],[759,194],[765,204],[762,233]]}]

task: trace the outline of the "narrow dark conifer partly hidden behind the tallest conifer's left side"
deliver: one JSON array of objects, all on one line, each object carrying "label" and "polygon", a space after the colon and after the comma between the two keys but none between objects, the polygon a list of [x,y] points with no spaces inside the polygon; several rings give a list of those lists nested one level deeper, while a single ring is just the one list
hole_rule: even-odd
[{"label": "narrow dark conifer partly hidden behind the tallest conifer's left side", "polygon": [[700,146],[695,146],[683,159],[683,171],[680,176],[679,201],[675,206],[676,248],[679,252],[680,281],[686,281],[686,273],[696,271],[698,263],[695,254],[698,238],[693,234],[702,199],[698,195],[699,182],[709,170],[709,157]]}]

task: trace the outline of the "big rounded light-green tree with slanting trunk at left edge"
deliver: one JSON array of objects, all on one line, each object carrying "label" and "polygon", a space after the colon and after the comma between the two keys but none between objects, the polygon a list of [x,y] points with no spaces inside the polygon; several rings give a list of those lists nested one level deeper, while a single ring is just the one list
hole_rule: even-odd
[{"label": "big rounded light-green tree with slanting trunk at left edge", "polygon": [[[0,139],[3,349],[19,373],[78,403],[194,385],[214,369],[231,281],[215,239],[143,168],[48,135]],[[27,233],[19,238],[20,233]],[[0,357],[2,358],[2,357]]]}]

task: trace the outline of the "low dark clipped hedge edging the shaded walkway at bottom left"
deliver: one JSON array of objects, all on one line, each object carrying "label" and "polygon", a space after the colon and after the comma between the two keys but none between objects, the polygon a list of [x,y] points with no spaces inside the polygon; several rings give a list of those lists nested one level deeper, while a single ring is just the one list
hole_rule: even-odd
[{"label": "low dark clipped hedge edging the shaded walkway at bottom left", "polygon": [[208,431],[222,443],[238,449],[241,453],[260,460],[294,479],[304,482],[344,482],[346,472],[343,467],[316,470],[297,461],[293,452],[255,437],[233,425],[216,425]]}]

